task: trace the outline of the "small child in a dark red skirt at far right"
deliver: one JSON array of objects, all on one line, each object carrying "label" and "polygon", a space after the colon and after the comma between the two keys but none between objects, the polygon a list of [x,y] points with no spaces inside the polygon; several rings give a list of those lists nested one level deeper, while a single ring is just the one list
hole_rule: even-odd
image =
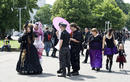
[{"label": "small child in a dark red skirt at far right", "polygon": [[124,63],[126,63],[126,54],[122,43],[119,44],[119,55],[117,56],[116,62],[119,62],[119,68],[123,69]]}]

